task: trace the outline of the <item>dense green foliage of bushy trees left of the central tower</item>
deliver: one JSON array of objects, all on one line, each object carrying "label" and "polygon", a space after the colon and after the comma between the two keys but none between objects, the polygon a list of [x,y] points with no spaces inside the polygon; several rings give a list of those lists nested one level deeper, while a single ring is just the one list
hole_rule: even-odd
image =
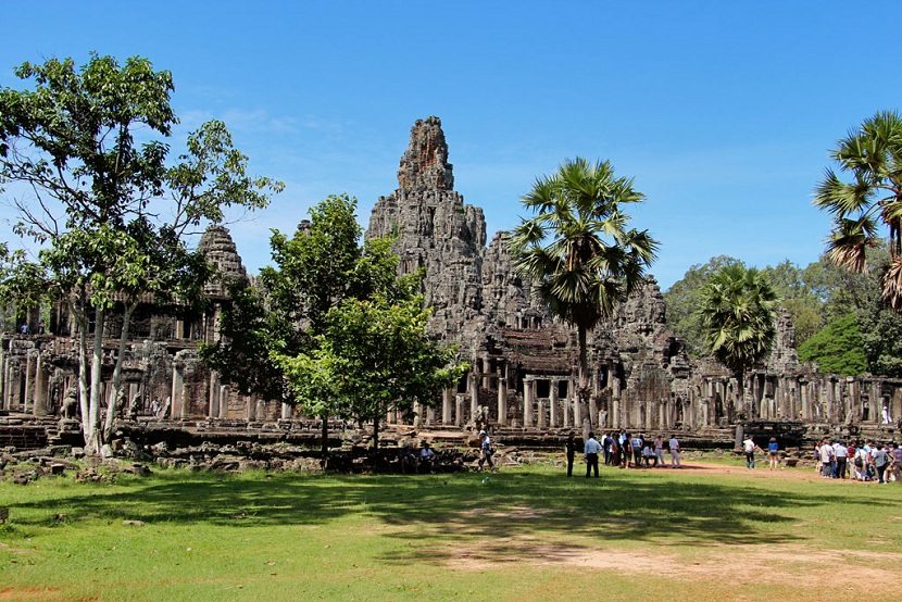
[{"label": "dense green foliage of bushy trees left of the central tower", "polygon": [[260,288],[234,288],[223,339],[204,358],[245,392],[320,416],[379,419],[425,405],[460,378],[454,350],[426,331],[418,275],[398,276],[391,239],[359,244],[356,200],[333,196],[291,238],[274,231]]}]

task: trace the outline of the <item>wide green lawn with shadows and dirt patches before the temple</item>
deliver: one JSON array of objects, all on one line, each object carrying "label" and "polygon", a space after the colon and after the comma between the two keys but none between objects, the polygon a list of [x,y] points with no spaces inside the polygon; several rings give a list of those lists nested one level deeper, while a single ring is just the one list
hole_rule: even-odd
[{"label": "wide green lawn with shadows and dirt patches before the temple", "polygon": [[690,464],[0,482],[0,600],[898,597],[902,484]]}]

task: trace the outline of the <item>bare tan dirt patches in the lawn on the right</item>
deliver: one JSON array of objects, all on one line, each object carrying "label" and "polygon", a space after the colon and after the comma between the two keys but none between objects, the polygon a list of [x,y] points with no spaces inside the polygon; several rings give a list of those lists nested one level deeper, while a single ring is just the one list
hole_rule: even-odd
[{"label": "bare tan dirt patches in the lawn on the right", "polygon": [[[659,468],[656,471],[663,471]],[[666,468],[667,471],[672,468]],[[610,469],[609,469],[610,471]],[[754,471],[743,466],[725,466],[691,462],[679,468],[681,474],[743,475],[755,479],[820,479],[814,468],[769,471],[761,465]],[[837,482],[838,487],[877,487],[876,484]],[[894,485],[893,485],[894,487]],[[510,509],[505,513],[489,513],[489,518],[516,523],[528,521],[541,511],[527,507]],[[610,518],[607,523],[616,523]],[[902,529],[902,516],[894,523]],[[870,542],[875,548],[885,541]],[[662,551],[663,550],[663,551]],[[512,553],[513,552],[513,553]],[[899,551],[845,551],[816,549],[804,543],[705,545],[680,553],[671,553],[660,544],[639,549],[598,549],[567,543],[549,543],[523,536],[501,538],[488,545],[473,549],[461,547],[448,556],[448,567],[454,570],[486,570],[504,563],[531,563],[536,566],[567,567],[615,572],[619,576],[655,576],[678,581],[723,584],[741,589],[748,585],[771,585],[780,590],[797,592],[788,599],[820,600],[834,594],[887,595],[899,593]],[[893,594],[890,594],[893,595]],[[743,599],[737,592],[736,599]]]}]

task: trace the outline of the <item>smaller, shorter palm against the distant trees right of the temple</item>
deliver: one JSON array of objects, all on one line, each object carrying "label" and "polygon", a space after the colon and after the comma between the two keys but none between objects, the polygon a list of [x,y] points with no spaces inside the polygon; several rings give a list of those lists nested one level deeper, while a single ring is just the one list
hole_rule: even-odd
[{"label": "smaller, shorter palm against the distant trees right of the temple", "polygon": [[698,315],[705,347],[736,377],[739,406],[746,373],[771,352],[776,305],[777,294],[764,275],[742,264],[722,267],[702,288]]}]

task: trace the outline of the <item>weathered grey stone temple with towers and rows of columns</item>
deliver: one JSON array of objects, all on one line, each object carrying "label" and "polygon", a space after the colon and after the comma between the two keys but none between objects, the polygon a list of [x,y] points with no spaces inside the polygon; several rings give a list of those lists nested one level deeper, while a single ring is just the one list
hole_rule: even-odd
[{"label": "weathered grey stone temple with towers and rows of columns", "polygon": [[[571,428],[624,428],[644,432],[679,429],[702,439],[732,439],[738,424],[762,432],[800,437],[845,429],[894,432],[884,424],[902,416],[902,380],[844,377],[800,364],[793,326],[778,319],[771,358],[746,379],[735,406],[737,382],[713,362],[691,362],[668,328],[664,299],[652,277],[622,303],[589,338],[590,401],[575,394],[576,333],[554,318],[516,275],[506,233],[490,241],[481,209],[454,191],[448,143],[438,117],[417,121],[401,158],[398,188],[378,199],[366,235],[398,236],[404,273],[425,269],[424,292],[434,313],[431,333],[458,346],[472,369],[430,406],[418,407],[414,425],[441,429],[489,425],[511,437],[554,435]],[[488,241],[488,244],[487,244]],[[211,227],[200,241],[210,262],[247,278],[228,230]],[[166,422],[186,429],[286,429],[303,422],[278,400],[241,396],[198,358],[199,343],[215,340],[217,315],[229,300],[221,285],[205,290],[203,315],[150,301],[131,327],[124,378],[123,419]],[[67,309],[53,309],[48,334],[4,334],[0,350],[0,412],[14,424],[65,412],[77,382],[76,333]],[[37,324],[32,325],[36,331]],[[109,321],[112,358],[118,329]],[[105,387],[110,393],[112,387]],[[109,394],[109,393],[108,393]],[[151,414],[158,404],[161,417]],[[386,417],[389,425],[400,416]],[[43,421],[50,424],[48,421]],[[2,422],[0,422],[2,427]],[[49,427],[50,428],[50,427]],[[50,428],[52,435],[52,428]],[[0,446],[4,444],[0,428]]]}]

